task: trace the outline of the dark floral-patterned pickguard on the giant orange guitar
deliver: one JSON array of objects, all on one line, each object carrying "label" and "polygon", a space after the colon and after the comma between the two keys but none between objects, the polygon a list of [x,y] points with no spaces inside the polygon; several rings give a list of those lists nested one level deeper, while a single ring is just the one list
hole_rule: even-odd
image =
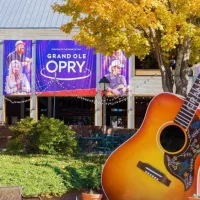
[{"label": "dark floral-patterned pickguard on the giant orange guitar", "polygon": [[200,153],[200,120],[198,116],[192,120],[187,130],[188,142],[183,152],[176,155],[165,153],[164,163],[167,170],[183,182],[188,190],[194,179],[194,162]]}]

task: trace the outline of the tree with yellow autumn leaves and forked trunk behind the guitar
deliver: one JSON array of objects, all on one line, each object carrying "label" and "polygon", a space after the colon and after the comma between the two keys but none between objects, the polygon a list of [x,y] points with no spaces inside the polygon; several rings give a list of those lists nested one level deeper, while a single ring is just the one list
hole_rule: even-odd
[{"label": "tree with yellow autumn leaves and forked trunk behind the guitar", "polygon": [[200,0],[66,0],[52,7],[71,16],[61,30],[79,28],[73,39],[96,52],[121,49],[140,59],[152,53],[163,90],[173,92],[175,84],[175,92],[186,96],[189,66],[199,62]]}]

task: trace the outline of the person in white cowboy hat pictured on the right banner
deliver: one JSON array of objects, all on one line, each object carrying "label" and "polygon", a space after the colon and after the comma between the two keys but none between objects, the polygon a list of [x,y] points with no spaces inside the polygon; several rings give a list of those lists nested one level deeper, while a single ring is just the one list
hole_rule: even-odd
[{"label": "person in white cowboy hat pictured on the right banner", "polygon": [[113,60],[109,65],[108,71],[109,74],[106,74],[105,77],[110,81],[110,87],[108,88],[108,95],[127,95],[128,86],[126,78],[124,75],[121,75],[121,68],[124,67],[124,64],[120,60]]}]

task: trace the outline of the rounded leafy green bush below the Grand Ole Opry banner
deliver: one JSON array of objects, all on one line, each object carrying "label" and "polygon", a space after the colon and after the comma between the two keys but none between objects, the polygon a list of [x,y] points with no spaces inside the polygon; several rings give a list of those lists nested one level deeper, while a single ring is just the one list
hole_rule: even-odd
[{"label": "rounded leafy green bush below the Grand Ole Opry banner", "polygon": [[25,118],[10,129],[14,136],[7,150],[11,153],[72,154],[76,150],[75,132],[54,118],[42,116],[38,122]]}]

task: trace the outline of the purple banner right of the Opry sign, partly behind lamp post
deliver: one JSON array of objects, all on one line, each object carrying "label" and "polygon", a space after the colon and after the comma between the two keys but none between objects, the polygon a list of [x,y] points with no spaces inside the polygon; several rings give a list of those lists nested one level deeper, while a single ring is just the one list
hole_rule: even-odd
[{"label": "purple banner right of the Opry sign, partly behind lamp post", "polygon": [[118,50],[112,56],[101,56],[101,77],[110,81],[107,95],[128,95],[129,59]]}]

